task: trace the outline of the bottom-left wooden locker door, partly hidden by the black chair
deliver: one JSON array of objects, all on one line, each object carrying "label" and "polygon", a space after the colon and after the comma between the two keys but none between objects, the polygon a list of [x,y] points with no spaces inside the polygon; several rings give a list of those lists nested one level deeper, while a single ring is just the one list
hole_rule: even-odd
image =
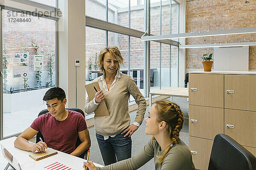
[{"label": "bottom-left wooden locker door, partly hidden by the black chair", "polygon": [[200,170],[208,170],[213,140],[201,139],[189,136],[189,150],[193,153],[192,160],[195,168]]}]

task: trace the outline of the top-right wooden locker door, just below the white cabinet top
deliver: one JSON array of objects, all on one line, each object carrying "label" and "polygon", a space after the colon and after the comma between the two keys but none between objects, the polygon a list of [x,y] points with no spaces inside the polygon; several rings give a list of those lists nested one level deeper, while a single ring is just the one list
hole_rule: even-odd
[{"label": "top-right wooden locker door, just below the white cabinet top", "polygon": [[224,86],[224,108],[256,111],[256,75],[225,74]]}]

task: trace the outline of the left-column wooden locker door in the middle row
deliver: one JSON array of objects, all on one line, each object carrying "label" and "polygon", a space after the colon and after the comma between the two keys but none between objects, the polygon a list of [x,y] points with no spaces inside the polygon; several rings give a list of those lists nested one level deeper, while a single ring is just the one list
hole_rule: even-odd
[{"label": "left-column wooden locker door in the middle row", "polygon": [[[189,101],[190,102],[190,101]],[[224,133],[224,109],[189,105],[189,135],[214,139]]]}]

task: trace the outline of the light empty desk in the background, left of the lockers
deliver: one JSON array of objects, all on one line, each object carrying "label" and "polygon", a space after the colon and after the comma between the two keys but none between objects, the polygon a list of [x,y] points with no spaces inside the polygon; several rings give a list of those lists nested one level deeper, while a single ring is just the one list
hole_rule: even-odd
[{"label": "light empty desk in the background, left of the lockers", "polygon": [[189,97],[188,88],[177,88],[177,87],[169,87],[164,88],[158,91],[153,91],[149,93],[149,106],[152,105],[152,96],[160,95],[160,96],[176,96],[176,97]]}]

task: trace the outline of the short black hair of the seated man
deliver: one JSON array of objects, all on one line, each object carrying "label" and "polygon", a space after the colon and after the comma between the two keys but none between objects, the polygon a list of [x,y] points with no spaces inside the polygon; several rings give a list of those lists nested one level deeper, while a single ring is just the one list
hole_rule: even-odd
[{"label": "short black hair of the seated man", "polygon": [[44,95],[43,100],[51,100],[57,98],[58,100],[61,100],[61,102],[66,98],[65,91],[62,88],[54,87],[50,88]]}]

